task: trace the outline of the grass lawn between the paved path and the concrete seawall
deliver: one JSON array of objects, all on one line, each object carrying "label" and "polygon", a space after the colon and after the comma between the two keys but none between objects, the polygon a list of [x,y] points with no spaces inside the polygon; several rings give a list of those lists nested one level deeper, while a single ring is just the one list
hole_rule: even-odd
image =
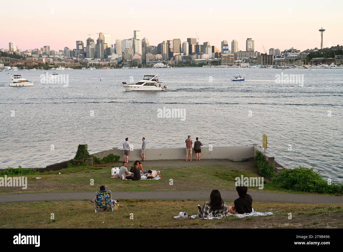
[{"label": "grass lawn between the paved path and the concrete seawall", "polygon": [[[143,163],[144,170],[155,169],[161,171],[159,180],[122,181],[111,179],[111,168],[120,167],[121,162],[102,165],[66,168],[58,171],[26,175],[27,189],[20,187],[0,187],[0,194],[34,193],[34,192],[94,192],[94,188],[105,185],[111,191],[181,191],[181,190],[234,190],[235,178],[260,177],[257,167],[252,165],[252,159],[243,162],[230,160],[207,159],[201,162],[185,162],[184,160],[156,160]],[[132,165],[132,162],[128,167]],[[59,174],[61,173],[61,174]],[[14,176],[19,177],[19,176]],[[37,180],[36,177],[42,179]],[[91,179],[94,185],[91,185]],[[170,185],[173,179],[173,185]],[[259,190],[250,187],[249,190]],[[268,179],[264,179],[262,191],[283,193],[292,192],[272,188]],[[315,194],[315,193],[306,193]]]}]

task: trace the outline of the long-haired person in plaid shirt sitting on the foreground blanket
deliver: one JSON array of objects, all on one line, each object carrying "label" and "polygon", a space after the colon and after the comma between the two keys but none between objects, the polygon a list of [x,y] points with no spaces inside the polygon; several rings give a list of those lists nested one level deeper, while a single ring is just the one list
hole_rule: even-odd
[{"label": "long-haired person in plaid shirt sitting on the foreground blanket", "polygon": [[213,190],[210,195],[210,201],[206,202],[202,208],[198,205],[198,208],[199,214],[197,218],[209,218],[215,214],[227,214],[226,203],[218,190]]}]

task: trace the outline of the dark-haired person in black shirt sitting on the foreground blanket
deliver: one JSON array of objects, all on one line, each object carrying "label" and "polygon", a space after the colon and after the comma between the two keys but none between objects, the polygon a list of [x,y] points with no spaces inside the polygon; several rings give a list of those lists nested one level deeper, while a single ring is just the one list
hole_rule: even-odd
[{"label": "dark-haired person in black shirt sitting on the foreground blanket", "polygon": [[234,201],[233,206],[227,206],[227,209],[232,214],[249,214],[252,212],[252,198],[248,192],[248,188],[236,187],[239,198]]}]

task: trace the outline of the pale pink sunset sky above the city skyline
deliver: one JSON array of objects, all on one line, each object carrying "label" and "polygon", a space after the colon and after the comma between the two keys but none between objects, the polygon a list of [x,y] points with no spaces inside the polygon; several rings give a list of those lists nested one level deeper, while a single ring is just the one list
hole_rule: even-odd
[{"label": "pale pink sunset sky above the city skyline", "polygon": [[[255,50],[264,45],[281,50],[291,47],[305,50],[343,44],[343,1],[2,1],[0,48],[8,49],[13,41],[18,49],[62,50],[75,48],[75,41],[86,44],[88,34],[110,34],[116,39],[133,37],[141,31],[150,45],[163,40],[199,36],[220,48],[222,40],[238,40],[245,50],[245,40],[255,40]],[[8,10],[8,11],[4,11]]]}]

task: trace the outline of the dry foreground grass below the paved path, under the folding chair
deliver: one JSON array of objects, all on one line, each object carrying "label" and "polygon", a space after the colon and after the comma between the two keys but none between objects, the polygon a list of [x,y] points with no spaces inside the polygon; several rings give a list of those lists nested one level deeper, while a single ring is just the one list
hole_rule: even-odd
[{"label": "dry foreground grass below the paved path, under the folding chair", "polygon": [[[275,214],[203,220],[173,219],[181,211],[197,214],[197,204],[204,204],[201,201],[118,203],[118,211],[97,214],[88,200],[2,203],[0,216],[6,218],[0,221],[0,228],[343,228],[343,204],[254,202],[255,211]],[[50,219],[51,213],[55,219]],[[288,219],[288,213],[292,213],[292,219]]]}]

